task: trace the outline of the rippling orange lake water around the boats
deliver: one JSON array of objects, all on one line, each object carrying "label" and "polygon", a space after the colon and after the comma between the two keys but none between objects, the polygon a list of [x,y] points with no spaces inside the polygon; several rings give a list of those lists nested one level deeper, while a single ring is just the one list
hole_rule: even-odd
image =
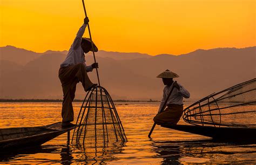
[{"label": "rippling orange lake water around the boats", "polygon": [[[256,145],[212,142],[210,138],[156,126],[147,138],[158,102],[115,102],[128,142],[104,152],[84,153],[67,134],[36,149],[1,153],[2,163],[188,164],[256,163]],[[123,105],[119,105],[123,104]],[[128,105],[124,105],[128,104]],[[82,102],[74,102],[78,115]],[[184,107],[186,107],[185,105]],[[0,128],[43,126],[61,121],[61,102],[0,102]],[[76,116],[75,116],[76,118]],[[179,124],[185,124],[183,119]],[[72,134],[72,132],[71,132]],[[254,135],[255,136],[255,135]],[[1,163],[0,162],[0,163]]]}]

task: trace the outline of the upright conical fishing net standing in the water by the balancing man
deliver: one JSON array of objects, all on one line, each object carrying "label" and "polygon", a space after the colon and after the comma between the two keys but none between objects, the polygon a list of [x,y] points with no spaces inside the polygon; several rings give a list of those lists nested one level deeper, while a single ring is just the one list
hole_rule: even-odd
[{"label": "upright conical fishing net standing in the water by the balancing man", "polygon": [[72,143],[82,148],[105,148],[125,142],[126,136],[116,107],[105,88],[87,93],[80,109]]}]

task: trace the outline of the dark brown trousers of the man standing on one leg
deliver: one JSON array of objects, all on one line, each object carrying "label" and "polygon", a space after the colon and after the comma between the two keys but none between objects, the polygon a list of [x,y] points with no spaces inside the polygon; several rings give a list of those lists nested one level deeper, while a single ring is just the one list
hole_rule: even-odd
[{"label": "dark brown trousers of the man standing on one leg", "polygon": [[59,80],[62,83],[63,91],[62,122],[71,122],[74,120],[72,101],[75,98],[77,83],[80,81],[85,91],[93,84],[82,63],[60,68]]}]

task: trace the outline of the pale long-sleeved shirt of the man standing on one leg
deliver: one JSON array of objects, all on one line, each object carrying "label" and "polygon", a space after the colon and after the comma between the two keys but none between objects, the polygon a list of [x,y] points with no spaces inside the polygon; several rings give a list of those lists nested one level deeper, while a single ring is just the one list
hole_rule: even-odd
[{"label": "pale long-sleeved shirt of the man standing on one leg", "polygon": [[60,64],[60,67],[83,63],[87,72],[91,72],[93,70],[91,65],[87,66],[85,64],[84,51],[81,46],[82,37],[84,35],[85,28],[86,28],[86,24],[83,24],[79,29],[79,31],[77,32],[77,36],[69,49],[69,53],[66,56],[65,60],[63,61],[63,63]]}]

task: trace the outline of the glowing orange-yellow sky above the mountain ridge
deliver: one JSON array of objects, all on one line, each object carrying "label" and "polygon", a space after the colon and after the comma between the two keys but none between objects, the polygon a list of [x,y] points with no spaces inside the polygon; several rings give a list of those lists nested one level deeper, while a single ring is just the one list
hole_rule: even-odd
[{"label": "glowing orange-yellow sky above the mountain ridge", "polygon": [[[100,50],[151,55],[255,46],[255,0],[85,0]],[[0,46],[68,50],[82,0],[0,0]],[[85,32],[85,36],[87,35]]]}]

